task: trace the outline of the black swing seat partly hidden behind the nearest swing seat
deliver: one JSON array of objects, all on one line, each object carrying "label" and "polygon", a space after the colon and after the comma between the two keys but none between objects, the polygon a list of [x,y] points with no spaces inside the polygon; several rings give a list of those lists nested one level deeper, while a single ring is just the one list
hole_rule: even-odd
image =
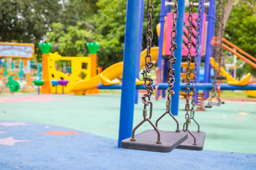
[{"label": "black swing seat partly hidden behind the nearest swing seat", "polygon": [[[183,131],[182,131],[183,132]],[[177,147],[177,149],[188,149],[188,150],[203,150],[204,140],[206,138],[206,133],[201,131],[190,131],[194,137],[196,137],[196,145],[194,144],[193,137],[186,131],[183,133],[188,134],[188,139],[185,140],[181,145]]]}]

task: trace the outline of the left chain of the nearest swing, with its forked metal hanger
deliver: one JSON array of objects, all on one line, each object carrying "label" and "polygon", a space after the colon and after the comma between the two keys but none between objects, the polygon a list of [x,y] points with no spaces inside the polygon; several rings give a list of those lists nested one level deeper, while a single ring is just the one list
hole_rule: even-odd
[{"label": "left chain of the nearest swing, with its forked metal hanger", "polygon": [[[152,67],[154,67],[154,62],[152,62],[152,57],[151,57],[151,44],[153,40],[153,31],[152,31],[152,16],[154,13],[154,6],[153,6],[153,0],[148,0],[147,1],[147,8],[146,8],[146,16],[148,17],[148,23],[146,27],[146,56],[145,56],[145,69],[142,72],[143,79],[144,79],[144,87],[145,90],[147,91],[146,94],[142,96],[142,103],[144,103],[144,109],[143,109],[143,118],[142,122],[140,122],[133,130],[132,130],[132,139],[131,141],[136,141],[135,140],[135,130],[139,128],[144,122],[148,121],[156,130],[157,132],[157,144],[161,144],[160,141],[160,132],[158,128],[152,123],[151,117],[152,117],[152,109],[153,109],[153,103],[150,101],[151,95],[154,94],[154,87],[152,86],[153,84],[153,79],[148,77],[148,74],[151,72]],[[149,106],[149,117],[147,118],[147,106]]]}]

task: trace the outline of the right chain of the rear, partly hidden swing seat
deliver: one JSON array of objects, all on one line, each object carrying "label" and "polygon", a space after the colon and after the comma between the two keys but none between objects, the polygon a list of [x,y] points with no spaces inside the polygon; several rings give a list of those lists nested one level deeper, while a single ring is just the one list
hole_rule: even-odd
[{"label": "right chain of the rear, partly hidden swing seat", "polygon": [[200,38],[200,32],[201,32],[201,19],[202,19],[202,8],[203,8],[203,1],[199,0],[199,4],[198,4],[198,25],[196,27],[196,55],[195,55],[195,67],[194,67],[194,71],[193,71],[193,94],[192,94],[192,101],[191,101],[191,118],[194,117],[195,115],[195,107],[196,107],[196,74],[197,74],[197,67],[198,67],[198,57],[199,57],[199,46],[200,46],[200,42],[199,42],[199,38]]}]

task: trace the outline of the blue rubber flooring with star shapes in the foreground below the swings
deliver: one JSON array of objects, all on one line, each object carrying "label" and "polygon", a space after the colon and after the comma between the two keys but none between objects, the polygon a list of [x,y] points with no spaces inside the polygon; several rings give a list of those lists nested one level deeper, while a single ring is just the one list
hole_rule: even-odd
[{"label": "blue rubber flooring with star shapes in the foreground below the swings", "polygon": [[118,148],[117,140],[55,125],[0,121],[0,169],[250,170],[256,169],[256,154],[182,149],[144,152]]}]

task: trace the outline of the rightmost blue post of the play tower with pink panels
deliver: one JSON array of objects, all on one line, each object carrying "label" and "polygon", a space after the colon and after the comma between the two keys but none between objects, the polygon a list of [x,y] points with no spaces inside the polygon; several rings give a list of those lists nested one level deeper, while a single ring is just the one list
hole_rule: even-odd
[{"label": "rightmost blue post of the play tower with pink panels", "polygon": [[[208,28],[207,28],[207,41],[206,41],[206,56],[205,56],[205,74],[204,74],[204,83],[210,82],[210,57],[212,56],[212,46],[210,41],[213,39],[214,33],[214,23],[215,23],[215,0],[210,0],[210,6],[208,8]],[[209,93],[206,91],[206,98],[208,98]]]}]

